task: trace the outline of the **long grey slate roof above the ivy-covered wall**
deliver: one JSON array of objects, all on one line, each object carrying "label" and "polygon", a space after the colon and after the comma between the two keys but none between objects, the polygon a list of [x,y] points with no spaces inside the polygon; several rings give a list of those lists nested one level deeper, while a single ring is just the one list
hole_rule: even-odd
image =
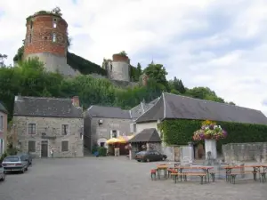
[{"label": "long grey slate roof above the ivy-covered wall", "polygon": [[199,119],[247,124],[267,124],[267,117],[259,110],[242,108],[210,100],[198,100],[171,93],[163,93],[158,102],[136,119],[145,123],[164,119]]}]

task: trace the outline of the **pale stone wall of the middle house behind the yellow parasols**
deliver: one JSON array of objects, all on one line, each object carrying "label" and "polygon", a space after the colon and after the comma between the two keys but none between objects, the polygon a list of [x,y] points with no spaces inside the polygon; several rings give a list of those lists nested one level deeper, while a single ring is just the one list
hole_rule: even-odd
[{"label": "pale stone wall of the middle house behind the yellow parasols", "polygon": [[131,119],[86,117],[85,116],[85,146],[92,150],[93,145],[101,146],[112,137],[112,131],[118,135],[131,135]]}]

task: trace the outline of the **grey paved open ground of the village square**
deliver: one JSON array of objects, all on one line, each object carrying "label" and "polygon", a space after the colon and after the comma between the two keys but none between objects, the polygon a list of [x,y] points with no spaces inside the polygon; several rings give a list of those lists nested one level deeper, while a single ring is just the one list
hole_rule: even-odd
[{"label": "grey paved open ground of the village square", "polygon": [[267,183],[236,185],[217,180],[150,180],[159,163],[137,163],[126,157],[36,159],[24,174],[8,174],[0,183],[1,200],[266,200]]}]

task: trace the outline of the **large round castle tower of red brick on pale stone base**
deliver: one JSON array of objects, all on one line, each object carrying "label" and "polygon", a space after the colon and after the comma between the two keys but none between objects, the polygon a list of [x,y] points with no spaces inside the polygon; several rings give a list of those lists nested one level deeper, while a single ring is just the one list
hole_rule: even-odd
[{"label": "large round castle tower of red brick on pale stone base", "polygon": [[36,12],[28,17],[23,59],[38,57],[47,71],[75,76],[78,71],[67,64],[68,24],[61,15]]}]

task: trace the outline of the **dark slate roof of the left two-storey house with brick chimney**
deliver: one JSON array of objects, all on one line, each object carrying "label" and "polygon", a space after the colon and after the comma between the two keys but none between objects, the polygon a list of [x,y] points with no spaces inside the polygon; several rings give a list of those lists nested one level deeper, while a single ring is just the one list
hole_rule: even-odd
[{"label": "dark slate roof of the left two-storey house with brick chimney", "polygon": [[70,99],[22,96],[14,102],[13,116],[83,118],[83,110]]}]

